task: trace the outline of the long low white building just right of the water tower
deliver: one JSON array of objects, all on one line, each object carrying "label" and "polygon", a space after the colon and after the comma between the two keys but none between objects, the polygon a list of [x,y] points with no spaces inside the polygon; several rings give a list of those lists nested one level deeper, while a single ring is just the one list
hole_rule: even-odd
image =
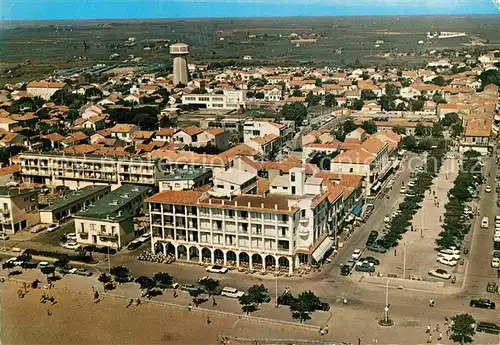
[{"label": "long low white building just right of the water tower", "polygon": [[224,90],[222,94],[187,94],[182,96],[182,104],[214,110],[245,108],[246,92],[245,90]]}]

